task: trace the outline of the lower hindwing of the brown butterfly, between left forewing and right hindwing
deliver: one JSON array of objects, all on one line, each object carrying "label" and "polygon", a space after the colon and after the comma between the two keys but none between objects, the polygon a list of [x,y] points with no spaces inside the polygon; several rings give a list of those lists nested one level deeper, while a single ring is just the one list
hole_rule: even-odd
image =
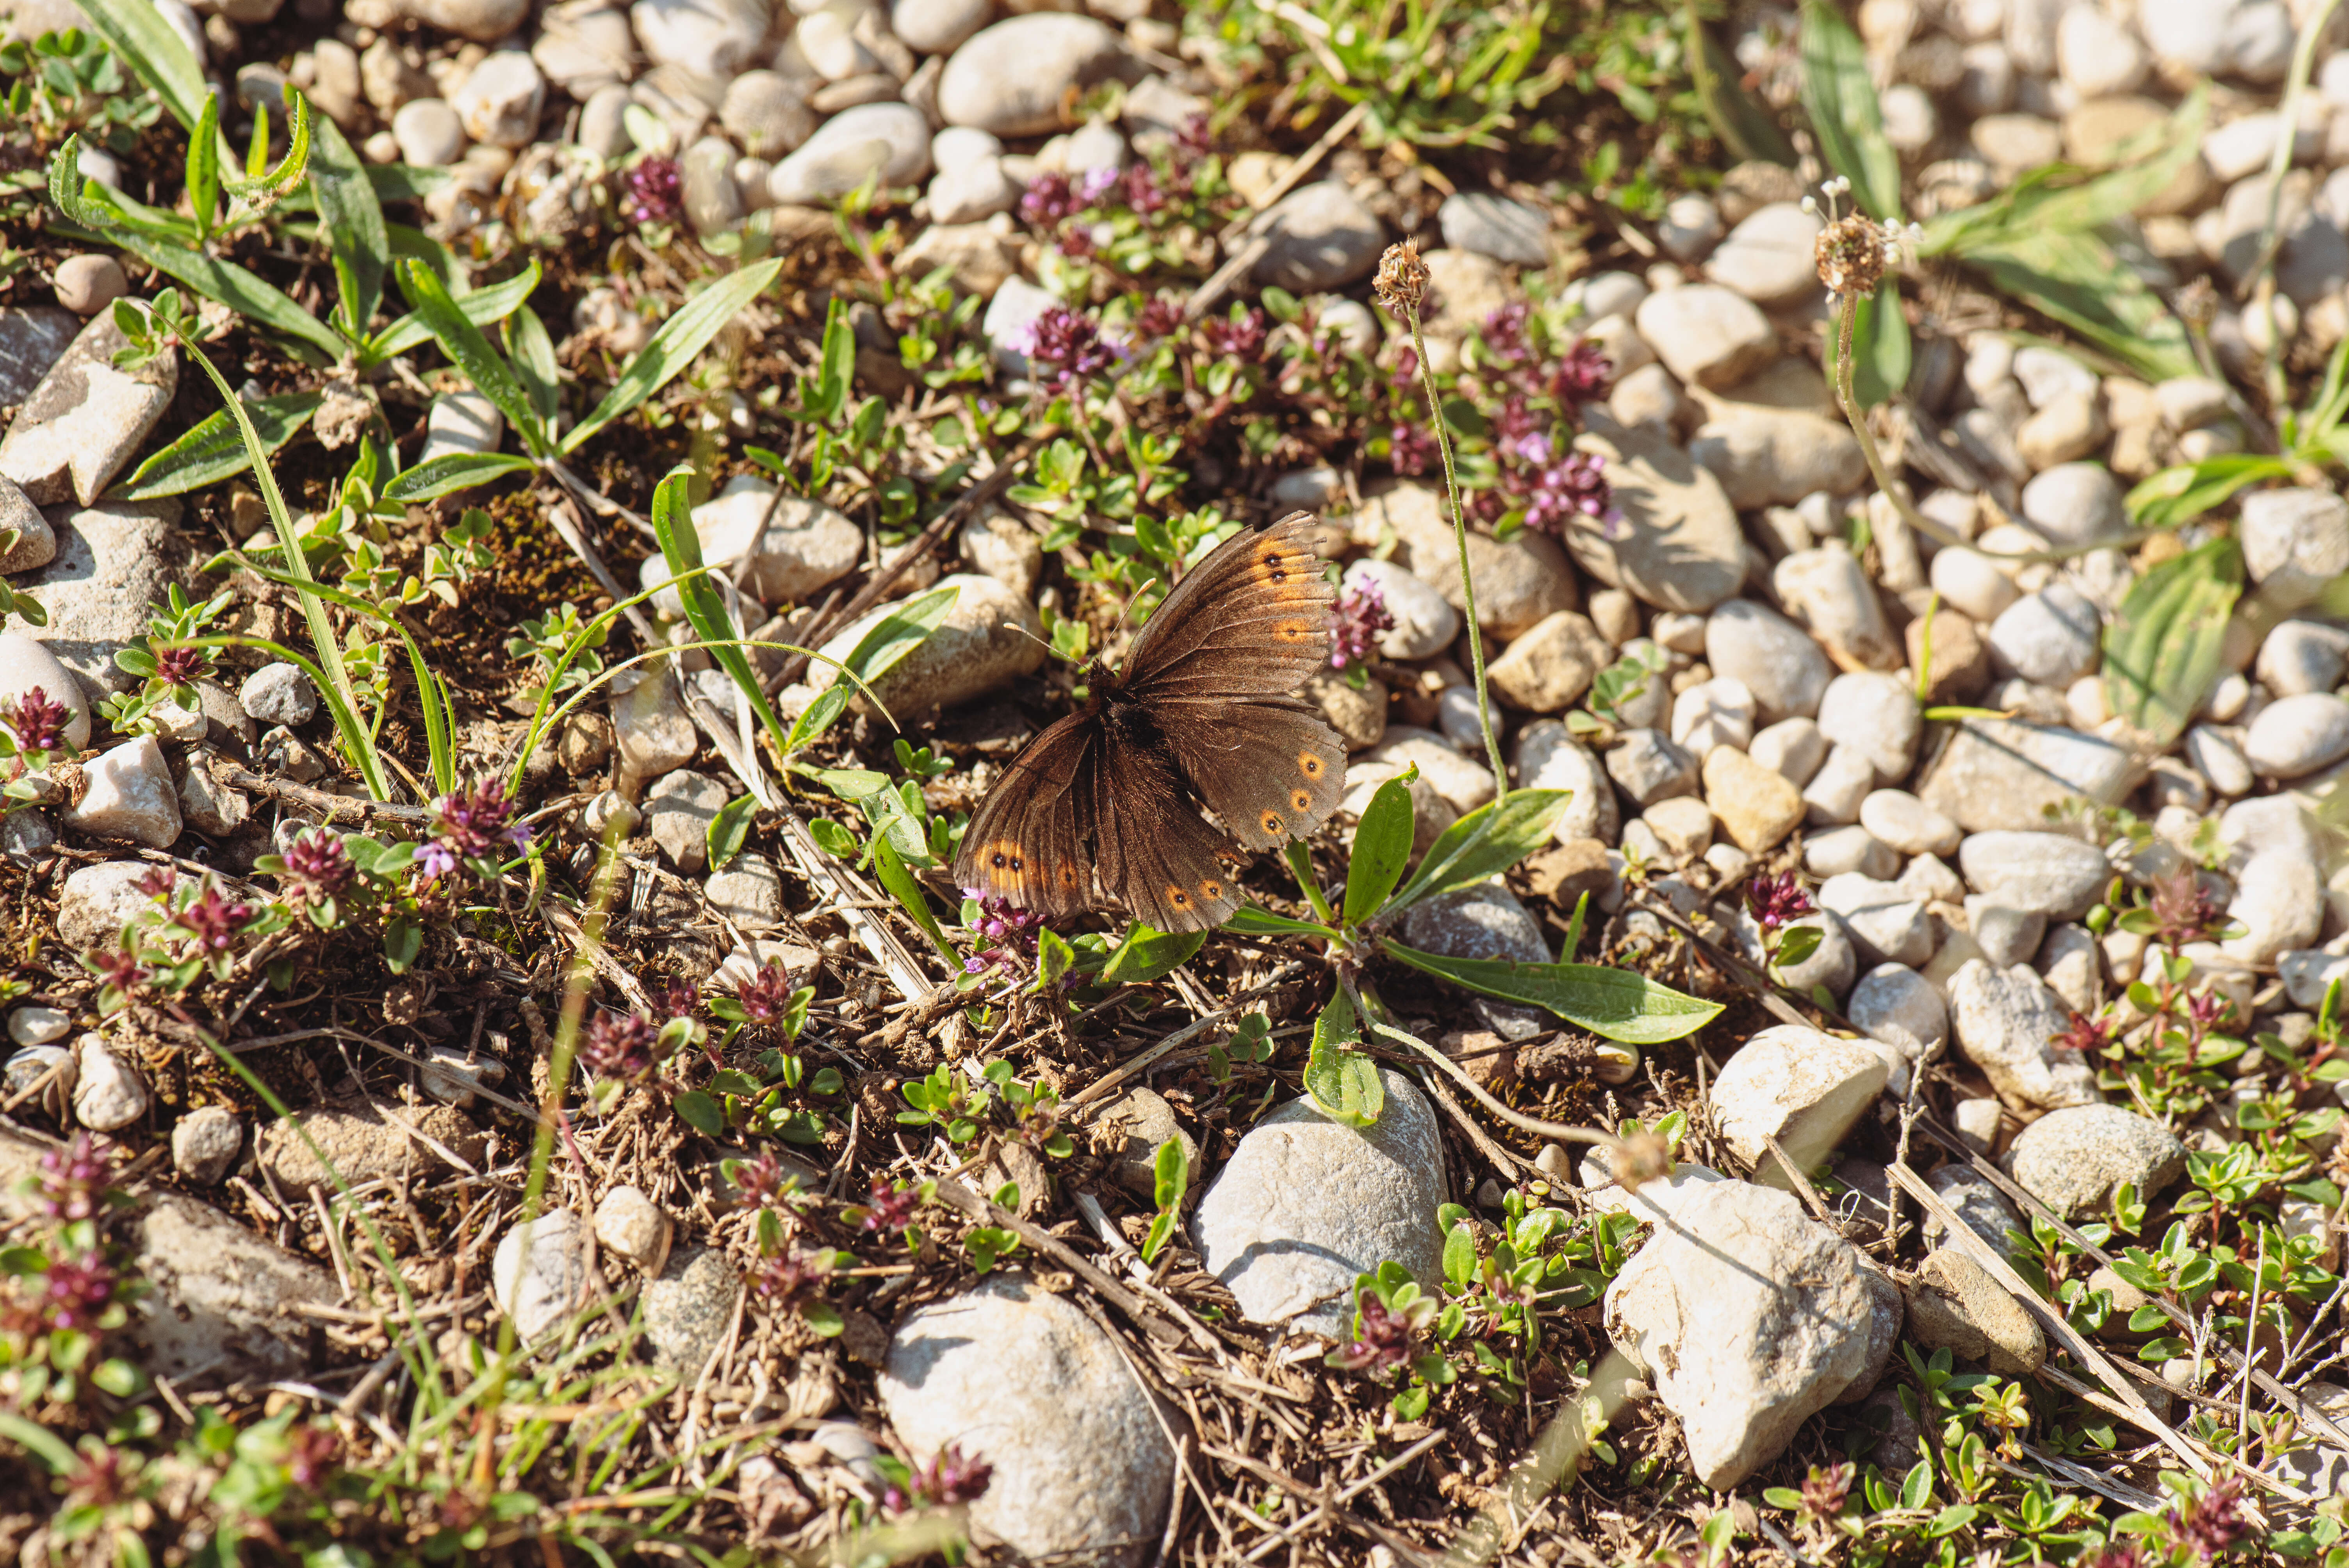
[{"label": "lower hindwing of the brown butterfly, between left forewing and right hindwing", "polygon": [[1102,885],[1160,932],[1203,932],[1231,918],[1238,890],[1224,871],[1221,836],[1174,777],[1163,746],[1104,735],[1095,777],[1102,812]]}]

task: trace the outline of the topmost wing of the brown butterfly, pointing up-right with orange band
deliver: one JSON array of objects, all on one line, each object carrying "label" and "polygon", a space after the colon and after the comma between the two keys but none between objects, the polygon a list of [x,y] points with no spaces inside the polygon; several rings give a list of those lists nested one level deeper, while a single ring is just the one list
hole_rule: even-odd
[{"label": "topmost wing of the brown butterfly, pointing up-right with orange band", "polygon": [[1292,512],[1231,535],[1174,584],[1125,657],[1125,697],[1280,697],[1330,662],[1337,589]]}]

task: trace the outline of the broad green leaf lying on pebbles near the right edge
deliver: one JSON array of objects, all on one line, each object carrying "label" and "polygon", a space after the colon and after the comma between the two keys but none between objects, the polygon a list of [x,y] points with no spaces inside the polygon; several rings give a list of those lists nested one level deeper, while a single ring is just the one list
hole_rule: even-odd
[{"label": "broad green leaf lying on pebbles near the right edge", "polygon": [[2241,592],[2234,540],[2210,540],[2138,577],[2105,627],[2112,711],[2163,746],[2175,739],[2210,695]]}]

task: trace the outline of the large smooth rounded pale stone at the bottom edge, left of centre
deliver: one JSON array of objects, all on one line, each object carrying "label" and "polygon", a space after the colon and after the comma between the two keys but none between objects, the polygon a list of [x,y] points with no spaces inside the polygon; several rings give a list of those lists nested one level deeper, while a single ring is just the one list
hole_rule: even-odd
[{"label": "large smooth rounded pale stone at the bottom edge, left of centre", "polygon": [[1022,1556],[1139,1568],[1156,1549],[1174,1481],[1163,1418],[1116,1340],[1029,1277],[907,1314],[881,1406],[916,1462],[954,1444],[994,1467],[970,1521]]}]

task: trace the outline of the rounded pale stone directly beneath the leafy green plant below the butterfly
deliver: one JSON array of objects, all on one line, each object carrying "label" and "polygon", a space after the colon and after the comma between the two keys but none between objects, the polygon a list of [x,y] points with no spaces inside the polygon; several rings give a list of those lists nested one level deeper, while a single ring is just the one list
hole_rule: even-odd
[{"label": "rounded pale stone directly beneath the leafy green plant below the butterfly", "polygon": [[1442,1272],[1435,1207],[1445,1199],[1435,1113],[1388,1068],[1386,1108],[1346,1127],[1297,1099],[1259,1120],[1198,1204],[1207,1272],[1257,1324],[1294,1322],[1337,1338],[1353,1322],[1353,1279],[1384,1261]]}]

